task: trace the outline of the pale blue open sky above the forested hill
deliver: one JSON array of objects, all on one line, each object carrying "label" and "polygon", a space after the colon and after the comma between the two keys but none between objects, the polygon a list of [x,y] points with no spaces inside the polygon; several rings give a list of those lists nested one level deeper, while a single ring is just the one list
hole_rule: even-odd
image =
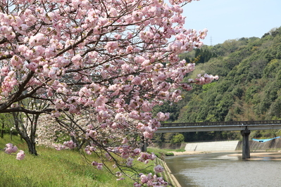
[{"label": "pale blue open sky above the forested hill", "polygon": [[201,0],[183,8],[185,28],[208,29],[206,45],[259,37],[281,27],[281,0]]}]

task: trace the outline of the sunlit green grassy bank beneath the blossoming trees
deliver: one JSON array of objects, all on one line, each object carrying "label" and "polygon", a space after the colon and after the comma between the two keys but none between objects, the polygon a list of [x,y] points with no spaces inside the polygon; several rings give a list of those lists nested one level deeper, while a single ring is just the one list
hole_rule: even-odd
[{"label": "sunlit green grassy bank beneath the blossoming trees", "polygon": [[[13,136],[13,141],[9,136],[0,138],[0,148],[4,148],[6,143],[13,143],[25,153],[28,152],[26,144],[17,136]],[[0,186],[132,186],[133,181],[130,179],[116,181],[105,169],[97,170],[87,165],[77,151],[58,151],[39,146],[37,152],[39,156],[27,153],[25,159],[19,161],[15,160],[15,155],[0,151]],[[91,159],[95,160],[94,155],[91,155]],[[139,165],[139,168],[143,167]],[[142,172],[153,172],[153,167]]]}]

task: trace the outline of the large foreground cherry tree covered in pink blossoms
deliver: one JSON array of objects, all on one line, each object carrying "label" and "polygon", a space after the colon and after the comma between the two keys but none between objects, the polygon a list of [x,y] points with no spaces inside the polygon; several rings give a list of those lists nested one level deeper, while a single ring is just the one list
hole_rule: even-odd
[{"label": "large foreground cherry tree covered in pink blossoms", "polygon": [[[72,137],[58,149],[85,143],[86,153],[99,148],[107,160],[115,153],[127,167],[135,156],[154,158],[135,147],[136,134],[152,138],[169,117],[153,116],[154,106],[218,79],[182,82],[195,65],[178,54],[199,48],[207,32],[183,27],[182,6],[191,1],[0,1],[0,112],[51,115]],[[26,99],[48,105],[16,105]],[[135,186],[160,181],[143,176]]]}]

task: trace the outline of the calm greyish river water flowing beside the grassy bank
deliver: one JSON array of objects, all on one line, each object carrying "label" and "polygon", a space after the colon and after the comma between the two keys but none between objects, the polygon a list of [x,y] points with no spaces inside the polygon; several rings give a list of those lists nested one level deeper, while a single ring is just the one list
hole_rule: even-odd
[{"label": "calm greyish river water flowing beside the grassy bank", "polygon": [[242,160],[230,154],[178,155],[165,161],[182,187],[281,186],[281,161]]}]

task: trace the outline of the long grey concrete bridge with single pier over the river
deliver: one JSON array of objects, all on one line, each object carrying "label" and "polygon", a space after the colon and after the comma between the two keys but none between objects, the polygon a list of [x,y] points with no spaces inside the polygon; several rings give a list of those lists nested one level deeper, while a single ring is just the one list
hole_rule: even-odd
[{"label": "long grey concrete bridge with single pier over the river", "polygon": [[243,136],[242,158],[250,158],[249,134],[252,130],[281,129],[281,120],[240,122],[163,123],[154,133],[190,131],[240,131]]}]

